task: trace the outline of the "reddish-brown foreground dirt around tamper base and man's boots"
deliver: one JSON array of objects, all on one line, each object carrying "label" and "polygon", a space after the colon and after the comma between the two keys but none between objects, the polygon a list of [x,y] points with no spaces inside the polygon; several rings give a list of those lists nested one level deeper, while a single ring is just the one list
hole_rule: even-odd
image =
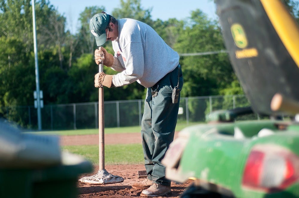
[{"label": "reddish-brown foreground dirt around tamper base and man's boots", "polygon": [[[90,185],[90,184],[78,184],[79,198],[132,198],[141,197],[140,193],[142,190],[136,190],[132,188],[133,183],[143,180],[138,179],[138,171],[145,170],[144,165],[107,165],[105,169],[113,174],[123,177],[124,181],[116,184],[105,184],[105,185]],[[89,174],[82,174],[79,178],[85,176],[92,176],[99,171],[98,166],[94,166],[94,171]],[[171,182],[171,194],[164,197],[178,198],[180,194],[190,185],[192,180],[188,180],[183,184],[177,184]]]}]

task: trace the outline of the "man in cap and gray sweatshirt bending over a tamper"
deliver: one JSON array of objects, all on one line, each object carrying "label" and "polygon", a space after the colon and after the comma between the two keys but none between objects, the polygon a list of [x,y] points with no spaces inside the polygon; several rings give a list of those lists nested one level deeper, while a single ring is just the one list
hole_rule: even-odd
[{"label": "man in cap and gray sweatshirt bending over a tamper", "polygon": [[[170,181],[165,178],[161,160],[173,141],[178,116],[179,91],[183,86],[179,55],[149,25],[134,19],[116,20],[102,12],[91,18],[90,30],[97,46],[112,41],[115,52],[112,55],[100,47],[94,52],[95,62],[103,61],[105,66],[119,72],[97,73],[95,87],[119,87],[137,81],[147,88],[141,136],[148,177],[132,187],[144,189],[143,197],[169,194]],[[173,90],[177,96],[174,102]]]}]

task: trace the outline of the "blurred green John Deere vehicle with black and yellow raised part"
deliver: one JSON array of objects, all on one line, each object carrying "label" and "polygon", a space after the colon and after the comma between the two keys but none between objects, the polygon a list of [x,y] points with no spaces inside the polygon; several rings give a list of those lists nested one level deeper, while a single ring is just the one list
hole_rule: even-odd
[{"label": "blurred green John Deere vehicle with black and yellow raised part", "polygon": [[[248,108],[187,127],[162,163],[181,197],[299,197],[299,27],[280,0],[215,0]],[[254,112],[267,120],[235,121]],[[282,120],[281,117],[289,117]]]}]

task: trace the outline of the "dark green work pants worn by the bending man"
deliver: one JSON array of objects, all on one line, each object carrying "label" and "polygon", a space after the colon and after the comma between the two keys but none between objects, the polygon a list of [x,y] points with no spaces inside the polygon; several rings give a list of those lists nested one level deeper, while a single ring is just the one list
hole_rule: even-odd
[{"label": "dark green work pants worn by the bending man", "polygon": [[[165,75],[157,84],[147,89],[144,103],[144,114],[141,123],[141,137],[144,152],[144,163],[148,179],[153,183],[170,186],[165,178],[165,166],[161,164],[169,144],[173,141],[179,111],[179,101],[173,104],[172,90],[178,84],[183,86],[181,66]],[[152,97],[151,91],[157,90],[158,95]]]}]

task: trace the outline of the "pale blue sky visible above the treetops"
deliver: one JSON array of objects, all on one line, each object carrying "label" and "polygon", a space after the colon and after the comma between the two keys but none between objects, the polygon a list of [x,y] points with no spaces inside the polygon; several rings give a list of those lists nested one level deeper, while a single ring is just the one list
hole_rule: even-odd
[{"label": "pale blue sky visible above the treetops", "polygon": [[[67,29],[76,32],[80,24],[77,23],[79,14],[85,7],[103,6],[106,13],[111,14],[114,8],[120,7],[119,0],[91,1],[91,0],[49,0],[60,14],[67,18]],[[191,11],[200,9],[211,19],[216,19],[216,7],[213,0],[141,0],[142,8],[152,8],[152,19],[160,18],[166,21],[169,18],[179,20],[190,16]]]}]

